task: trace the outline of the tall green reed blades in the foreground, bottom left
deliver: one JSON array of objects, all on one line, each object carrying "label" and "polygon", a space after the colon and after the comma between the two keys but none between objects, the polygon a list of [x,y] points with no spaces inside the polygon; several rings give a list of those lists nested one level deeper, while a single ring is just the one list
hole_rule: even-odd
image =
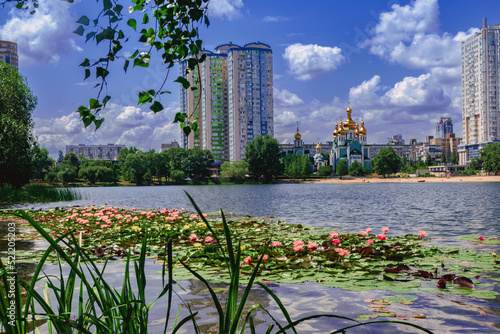
[{"label": "tall green reed blades in the foreground, bottom left", "polygon": [[[334,315],[318,314],[292,320],[286,307],[281,300],[266,285],[256,282],[259,267],[262,264],[263,255],[266,253],[267,246],[264,247],[260,260],[255,266],[254,271],[244,287],[243,295],[238,298],[240,284],[240,263],[241,247],[238,241],[232,240],[229,225],[221,210],[223,221],[223,230],[214,230],[209,222],[204,218],[201,210],[194,200],[187,195],[195,207],[196,211],[202,217],[207,228],[212,232],[217,241],[218,251],[225,260],[225,267],[230,276],[230,284],[227,291],[227,300],[222,301],[210,286],[207,278],[199,275],[195,270],[189,267],[187,263],[179,260],[197,279],[199,279],[208,289],[212,301],[218,314],[219,334],[237,334],[237,333],[255,333],[254,314],[255,310],[262,310],[268,314],[272,320],[266,333],[297,333],[296,326],[304,321],[317,318],[337,318],[353,322],[352,325],[340,328],[334,333],[344,333],[347,329],[366,326],[372,323],[398,323],[415,327],[423,332],[432,333],[429,330],[411,323],[401,321],[372,321],[359,322],[354,319]],[[111,286],[104,278],[106,263],[99,268],[97,264],[89,257],[85,250],[80,247],[78,236],[72,232],[53,239],[43,228],[34,221],[26,212],[22,210],[12,211],[16,215],[26,219],[40,234],[49,242],[49,247],[43,253],[38,262],[37,268],[30,282],[19,279],[13,275],[15,269],[7,268],[0,260],[0,282],[3,289],[0,289],[0,330],[7,334],[24,334],[29,331],[30,326],[40,321],[47,323],[50,334],[52,333],[148,333],[149,311],[160,298],[167,298],[167,310],[165,315],[164,333],[172,327],[171,333],[176,333],[187,323],[192,324],[191,332],[200,333],[196,322],[196,312],[192,312],[189,304],[187,309],[189,315],[179,318],[179,311],[174,317],[174,323],[169,326],[171,310],[173,305],[173,294],[175,293],[173,279],[173,249],[172,241],[167,240],[165,245],[166,258],[164,260],[164,269],[162,271],[163,289],[158,296],[148,302],[146,293],[146,249],[147,237],[144,237],[141,245],[141,252],[137,258],[131,258],[131,252],[128,252],[125,264],[125,275],[121,290]],[[0,213],[3,214],[3,213]],[[68,238],[71,237],[71,238]],[[60,245],[64,245],[63,249]],[[42,274],[43,265],[51,252],[55,251],[59,257],[59,275]],[[129,267],[133,264],[133,274]],[[69,266],[69,274],[63,274],[63,266]],[[10,284],[9,278],[15,278],[14,285]],[[40,292],[35,286],[43,283],[43,291]],[[280,323],[276,318],[261,305],[251,305],[248,307],[248,296],[250,291],[258,284],[279,306],[282,316],[286,323]],[[13,287],[12,289],[10,287]],[[23,295],[26,294],[24,297]],[[151,295],[151,294],[150,294]],[[226,295],[226,294],[223,294]],[[77,300],[77,303],[74,301]],[[11,304],[12,303],[12,304]],[[74,309],[74,305],[77,305]],[[14,317],[9,316],[10,305],[14,305]],[[12,319],[15,318],[14,323]],[[12,325],[14,324],[14,325]],[[3,328],[2,328],[3,327]],[[277,328],[275,328],[277,327]]]}]

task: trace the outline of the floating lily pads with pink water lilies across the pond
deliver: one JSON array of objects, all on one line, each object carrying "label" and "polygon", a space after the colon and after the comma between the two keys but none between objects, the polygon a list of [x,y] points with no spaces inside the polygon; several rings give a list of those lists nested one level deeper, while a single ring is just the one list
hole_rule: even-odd
[{"label": "floating lily pads with pink water lilies across the pond", "polygon": [[[83,248],[95,259],[126,258],[139,254],[147,235],[146,254],[163,261],[165,243],[173,241],[176,279],[193,278],[180,261],[213,282],[228,281],[221,270],[225,260],[217,251],[217,238],[197,214],[181,210],[137,211],[114,207],[73,207],[33,211],[34,217],[54,237],[68,231],[81,234]],[[223,231],[220,218],[203,214],[212,229]],[[259,276],[279,283],[318,282],[325,286],[354,291],[391,290],[396,293],[428,291],[458,294],[481,299],[498,295],[500,258],[465,248],[445,248],[426,244],[427,233],[391,235],[386,227],[352,233],[288,224],[270,218],[229,218],[232,240],[240,242],[241,279],[249,278],[267,246]],[[373,227],[375,229],[375,227]],[[25,233],[22,238],[38,238]],[[477,236],[464,238],[477,242]],[[224,240],[219,240],[223,246]],[[26,258],[39,256],[26,253]],[[179,261],[180,260],[180,261]]]}]

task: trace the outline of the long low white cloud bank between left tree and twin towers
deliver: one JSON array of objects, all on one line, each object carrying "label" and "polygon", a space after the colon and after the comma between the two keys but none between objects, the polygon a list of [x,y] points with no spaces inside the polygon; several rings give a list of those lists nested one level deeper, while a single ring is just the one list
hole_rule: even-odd
[{"label": "long low white cloud bank between left tree and twin towers", "polygon": [[65,152],[66,145],[77,144],[114,143],[159,151],[162,143],[180,140],[179,125],[172,123],[178,110],[177,103],[156,114],[139,107],[109,103],[101,111],[105,121],[97,131],[92,126],[85,129],[78,114],[71,113],[51,119],[35,118],[34,133],[40,146],[47,148],[52,156],[57,156],[58,151]]}]

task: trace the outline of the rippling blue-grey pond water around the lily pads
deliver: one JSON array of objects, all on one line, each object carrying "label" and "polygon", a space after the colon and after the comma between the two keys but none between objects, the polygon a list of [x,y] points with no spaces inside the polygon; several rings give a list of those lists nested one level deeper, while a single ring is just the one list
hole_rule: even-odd
[{"label": "rippling blue-grey pond water around the lily pads", "polygon": [[[74,202],[16,206],[18,208],[53,208],[68,205],[108,205],[137,209],[185,208],[192,210],[184,191],[195,199],[205,212],[223,209],[252,216],[274,216],[289,223],[329,227],[335,231],[356,232],[367,227],[380,230],[387,226],[392,234],[416,234],[427,231],[433,243],[461,245],[485,252],[499,253],[497,246],[485,246],[459,240],[463,235],[498,237],[500,235],[500,183],[370,183],[370,184],[277,184],[241,186],[155,186],[77,188],[82,200]],[[151,291],[160,291],[158,264],[148,263]],[[47,268],[48,273],[56,268]],[[123,264],[108,268],[112,279],[121,282]],[[265,278],[263,278],[265,279]],[[149,283],[148,283],[149,284]],[[207,292],[194,280],[181,283],[186,289],[181,296],[196,305],[204,332],[216,322]],[[273,291],[283,301],[292,318],[316,313],[334,313],[357,317],[371,312],[367,299],[394,298],[390,291],[345,291],[317,283],[273,284]],[[494,291],[500,292],[496,284]],[[270,305],[269,311],[279,314],[278,307],[256,290],[252,302]],[[421,292],[412,294],[414,304],[392,303],[391,312],[408,315],[426,314],[425,319],[409,321],[437,333],[490,333],[500,330],[500,299],[480,300]],[[161,305],[161,304],[160,304]],[[164,308],[156,308],[158,323],[152,332],[160,332]],[[161,314],[160,314],[161,313]],[[260,315],[262,316],[262,314]],[[262,316],[265,319],[265,316]],[[387,319],[387,318],[386,318]],[[345,323],[344,323],[345,324]],[[156,327],[155,327],[156,326]],[[264,330],[264,325],[261,325]],[[338,322],[318,320],[301,327],[300,333],[329,332]],[[418,332],[404,327],[367,327],[354,333]],[[187,331],[189,332],[189,330]]]}]

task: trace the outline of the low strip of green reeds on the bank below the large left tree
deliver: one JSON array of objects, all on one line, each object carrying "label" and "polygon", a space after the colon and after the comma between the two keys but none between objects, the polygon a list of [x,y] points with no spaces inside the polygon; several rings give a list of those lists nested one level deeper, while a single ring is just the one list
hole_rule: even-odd
[{"label": "low strip of green reeds on the bank below the large left tree", "polygon": [[19,189],[9,185],[0,187],[0,205],[61,202],[75,199],[81,199],[81,195],[70,188],[56,188],[45,184],[28,184]]}]

